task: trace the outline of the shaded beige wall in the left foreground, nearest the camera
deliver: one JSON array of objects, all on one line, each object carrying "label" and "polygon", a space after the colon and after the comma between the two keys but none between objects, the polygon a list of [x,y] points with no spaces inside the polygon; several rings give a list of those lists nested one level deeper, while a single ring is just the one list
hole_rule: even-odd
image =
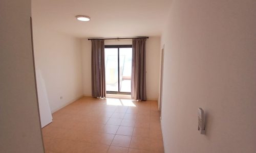
[{"label": "shaded beige wall in the left foreground, nearest the camera", "polygon": [[30,16],[30,0],[0,1],[0,152],[44,152]]}]

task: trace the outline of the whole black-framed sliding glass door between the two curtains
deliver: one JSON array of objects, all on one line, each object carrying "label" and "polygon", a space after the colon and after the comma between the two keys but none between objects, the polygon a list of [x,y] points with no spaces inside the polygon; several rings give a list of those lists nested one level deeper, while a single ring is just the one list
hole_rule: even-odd
[{"label": "whole black-framed sliding glass door between the two curtains", "polygon": [[105,45],[106,92],[131,94],[132,45]]}]

